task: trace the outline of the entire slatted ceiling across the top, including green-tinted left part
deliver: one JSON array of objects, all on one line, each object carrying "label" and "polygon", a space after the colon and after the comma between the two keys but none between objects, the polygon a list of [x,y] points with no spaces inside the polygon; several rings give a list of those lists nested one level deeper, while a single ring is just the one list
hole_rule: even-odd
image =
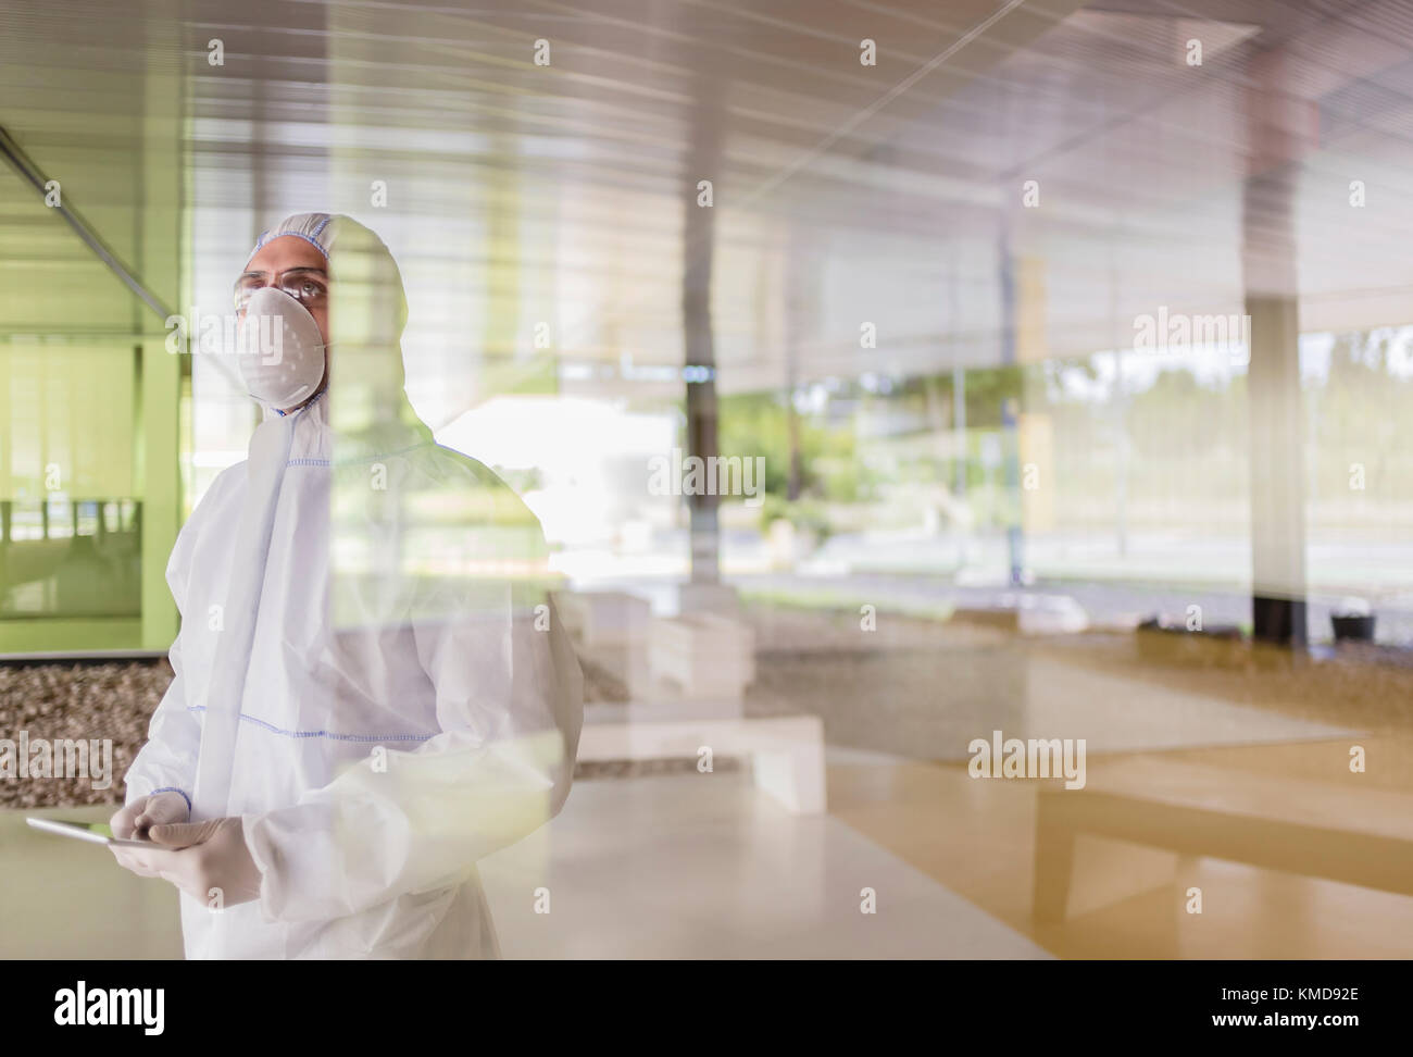
[{"label": "entire slatted ceiling across the top, including green-tinted left part", "polygon": [[[550,353],[571,387],[671,389],[651,367],[682,363],[708,249],[725,391],[1116,348],[1248,285],[1299,295],[1306,329],[1413,321],[1403,1],[127,7],[8,3],[0,123],[141,260],[143,86],[174,65],[196,304],[223,309],[280,213],[353,212],[403,263],[448,413]],[[0,247],[11,290],[51,277],[0,298],[3,333],[141,317],[8,171]]]}]

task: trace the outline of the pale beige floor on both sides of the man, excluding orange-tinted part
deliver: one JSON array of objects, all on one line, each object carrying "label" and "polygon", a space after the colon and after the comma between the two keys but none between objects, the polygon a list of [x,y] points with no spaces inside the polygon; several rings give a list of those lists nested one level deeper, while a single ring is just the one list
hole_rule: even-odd
[{"label": "pale beige floor on both sides of the man, excluding orange-tinted part", "polygon": [[[102,811],[47,811],[100,817]],[[181,957],[165,882],[0,815],[0,957]],[[480,865],[507,958],[1044,958],[1040,947],[746,773],[579,783],[548,828]],[[537,889],[550,913],[536,913]],[[861,910],[863,889],[876,913]]]}]

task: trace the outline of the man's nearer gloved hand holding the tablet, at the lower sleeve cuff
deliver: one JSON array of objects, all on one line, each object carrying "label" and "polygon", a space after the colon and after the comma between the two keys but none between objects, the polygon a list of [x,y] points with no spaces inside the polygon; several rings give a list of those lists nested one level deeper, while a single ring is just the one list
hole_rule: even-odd
[{"label": "man's nearer gloved hand holding the tablet, at the lower sleeve cuff", "polygon": [[260,868],[246,848],[240,818],[167,822],[148,837],[151,848],[109,845],[109,851],[140,878],[170,880],[212,910],[260,899]]}]

